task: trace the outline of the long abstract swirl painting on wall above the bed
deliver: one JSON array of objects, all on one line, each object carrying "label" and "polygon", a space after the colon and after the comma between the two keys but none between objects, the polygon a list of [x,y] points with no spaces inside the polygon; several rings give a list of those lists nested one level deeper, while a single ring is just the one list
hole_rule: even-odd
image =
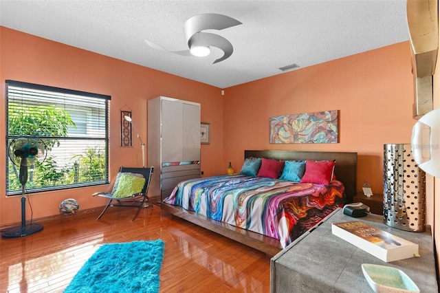
[{"label": "long abstract swirl painting on wall above the bed", "polygon": [[338,143],[338,110],[270,118],[271,144]]}]

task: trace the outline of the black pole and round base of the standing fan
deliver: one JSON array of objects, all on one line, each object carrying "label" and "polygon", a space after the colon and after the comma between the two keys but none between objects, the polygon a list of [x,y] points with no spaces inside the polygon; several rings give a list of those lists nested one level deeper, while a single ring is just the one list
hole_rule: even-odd
[{"label": "black pole and round base of the standing fan", "polygon": [[25,184],[28,182],[28,166],[25,158],[21,159],[20,164],[20,183],[21,183],[21,226],[15,226],[5,230],[1,234],[3,238],[19,238],[32,235],[36,232],[43,230],[43,225],[37,223],[31,223],[26,225],[26,196],[25,196]]}]

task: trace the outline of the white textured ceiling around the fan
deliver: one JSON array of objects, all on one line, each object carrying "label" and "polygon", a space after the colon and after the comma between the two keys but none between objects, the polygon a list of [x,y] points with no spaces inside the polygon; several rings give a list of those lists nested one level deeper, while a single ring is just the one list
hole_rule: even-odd
[{"label": "white textured ceiling around the fan", "polygon": [[[234,46],[199,58],[160,52],[187,50],[183,25],[219,13],[242,25],[211,31]],[[409,39],[406,0],[326,1],[7,1],[0,25],[219,88],[282,74]]]}]

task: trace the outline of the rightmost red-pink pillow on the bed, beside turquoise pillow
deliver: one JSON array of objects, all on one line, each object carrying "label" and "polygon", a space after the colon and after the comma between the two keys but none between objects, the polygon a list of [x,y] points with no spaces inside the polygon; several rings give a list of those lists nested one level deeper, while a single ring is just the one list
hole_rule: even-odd
[{"label": "rightmost red-pink pillow on the bed, beside turquoise pillow", "polygon": [[333,177],[334,161],[305,161],[305,173],[301,183],[316,183],[329,185]]}]

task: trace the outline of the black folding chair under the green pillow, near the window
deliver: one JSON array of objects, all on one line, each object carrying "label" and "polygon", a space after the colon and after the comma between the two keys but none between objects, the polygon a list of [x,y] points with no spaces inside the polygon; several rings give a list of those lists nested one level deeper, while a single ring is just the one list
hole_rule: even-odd
[{"label": "black folding chair under the green pillow, near the window", "polygon": [[[153,174],[154,167],[151,166],[149,168],[136,168],[136,167],[121,167],[119,172],[120,173],[137,173],[144,175],[145,178],[145,184],[144,188],[142,188],[141,193],[135,193],[133,195],[129,195],[128,197],[113,197],[112,193],[94,193],[93,196],[99,196],[99,197],[105,197],[109,199],[109,202],[107,203],[107,206],[104,207],[104,210],[100,213],[98,218],[96,218],[96,221],[104,215],[105,211],[109,206],[115,206],[120,208],[137,208],[137,211],[135,213],[135,216],[133,217],[132,221],[134,221],[139,215],[141,208],[153,208],[153,204],[151,203],[151,200],[148,198],[148,186],[150,186],[151,182],[151,174]],[[118,202],[118,204],[112,204],[112,202]]]}]

